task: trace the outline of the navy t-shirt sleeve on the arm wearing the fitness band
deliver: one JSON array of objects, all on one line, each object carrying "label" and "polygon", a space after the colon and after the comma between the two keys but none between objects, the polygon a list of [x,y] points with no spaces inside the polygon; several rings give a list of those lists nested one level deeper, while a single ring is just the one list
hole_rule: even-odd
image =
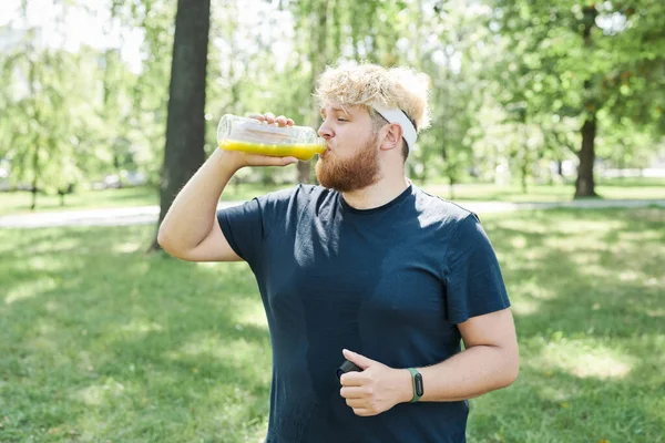
[{"label": "navy t-shirt sleeve on the arm wearing the fitness band", "polygon": [[510,307],[499,260],[475,214],[460,222],[452,235],[446,289],[448,320],[456,324]]}]

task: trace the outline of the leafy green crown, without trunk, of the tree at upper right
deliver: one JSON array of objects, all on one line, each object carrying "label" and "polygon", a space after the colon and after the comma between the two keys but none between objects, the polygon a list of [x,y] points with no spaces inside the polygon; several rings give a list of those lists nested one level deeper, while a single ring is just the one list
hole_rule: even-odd
[{"label": "leafy green crown, without trunk, of the tree at upper right", "polygon": [[[570,133],[571,124],[579,130],[587,115],[597,114],[601,156],[625,166],[644,165],[663,134],[665,35],[656,24],[665,12],[663,4],[524,0],[491,4],[488,25],[504,49],[492,70],[494,90],[509,117],[522,124],[554,121],[544,134],[552,141]],[[603,143],[636,142],[634,136],[643,143],[618,152],[617,143]],[[561,157],[570,145],[549,147],[560,150],[553,154]],[[604,154],[608,151],[612,155]]]}]

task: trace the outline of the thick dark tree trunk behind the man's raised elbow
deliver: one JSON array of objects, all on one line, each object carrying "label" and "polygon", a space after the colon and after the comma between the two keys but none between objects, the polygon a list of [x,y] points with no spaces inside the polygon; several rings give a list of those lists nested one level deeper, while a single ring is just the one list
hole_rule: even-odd
[{"label": "thick dark tree trunk behind the man's raised elbow", "polygon": [[[166,146],[160,183],[160,220],[205,161],[205,85],[209,0],[178,0],[175,16]],[[160,249],[155,238],[150,250]]]}]

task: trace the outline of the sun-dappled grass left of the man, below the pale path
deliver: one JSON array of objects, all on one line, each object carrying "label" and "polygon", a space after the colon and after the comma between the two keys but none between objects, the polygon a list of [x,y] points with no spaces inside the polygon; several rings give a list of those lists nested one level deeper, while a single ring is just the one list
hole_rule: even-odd
[{"label": "sun-dappled grass left of the man, below the pale path", "polygon": [[[244,441],[265,429],[269,337],[252,274],[145,256],[152,231],[3,233],[2,286],[27,295],[0,307],[2,435]],[[30,286],[42,279],[55,284]]]}]

